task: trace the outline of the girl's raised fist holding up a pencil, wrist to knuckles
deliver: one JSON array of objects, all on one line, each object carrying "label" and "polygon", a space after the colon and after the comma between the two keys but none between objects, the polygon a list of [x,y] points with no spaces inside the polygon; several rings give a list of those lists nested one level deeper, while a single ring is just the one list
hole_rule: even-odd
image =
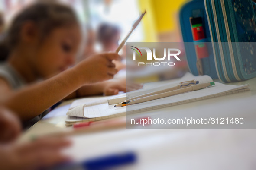
[{"label": "girl's raised fist holding up a pencil, wrist to knuckles", "polygon": [[84,84],[92,84],[113,79],[117,73],[112,60],[117,60],[120,56],[116,53],[96,54],[78,63],[75,69],[84,79]]}]

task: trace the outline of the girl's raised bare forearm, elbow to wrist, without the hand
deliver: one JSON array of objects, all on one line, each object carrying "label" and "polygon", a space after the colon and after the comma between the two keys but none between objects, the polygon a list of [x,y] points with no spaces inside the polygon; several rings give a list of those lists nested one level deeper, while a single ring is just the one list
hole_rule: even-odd
[{"label": "girl's raised bare forearm, elbow to wrist, without the hand", "polygon": [[21,120],[29,120],[83,85],[75,70],[69,69],[45,81],[28,85],[6,95],[3,105],[17,113]]}]

